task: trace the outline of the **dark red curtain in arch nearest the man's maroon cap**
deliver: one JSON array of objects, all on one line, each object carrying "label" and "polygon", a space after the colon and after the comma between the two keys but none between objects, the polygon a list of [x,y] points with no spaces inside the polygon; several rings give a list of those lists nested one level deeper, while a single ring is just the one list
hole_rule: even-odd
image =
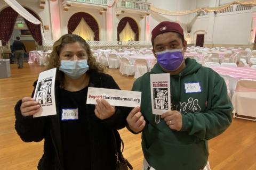
[{"label": "dark red curtain in arch nearest the man's maroon cap", "polygon": [[139,28],[137,23],[130,17],[125,17],[123,18],[119,23],[118,23],[118,27],[117,27],[117,40],[119,41],[119,33],[122,32],[122,30],[124,29],[126,23],[129,22],[129,24],[131,25],[131,28],[133,30],[133,32],[135,33],[135,40],[139,41]]}]

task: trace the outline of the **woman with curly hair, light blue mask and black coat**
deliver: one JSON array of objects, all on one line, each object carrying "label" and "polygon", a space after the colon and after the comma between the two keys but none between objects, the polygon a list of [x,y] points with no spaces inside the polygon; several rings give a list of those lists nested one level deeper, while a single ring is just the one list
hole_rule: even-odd
[{"label": "woman with curly hair, light blue mask and black coat", "polygon": [[[54,43],[47,70],[54,67],[57,115],[33,118],[41,106],[30,97],[15,106],[20,138],[25,142],[44,139],[38,169],[115,169],[115,148],[119,159],[121,149],[117,129],[126,125],[129,109],[111,106],[104,99],[98,99],[96,106],[86,105],[86,97],[88,87],[119,89],[118,85],[103,73],[90,46],[77,35],[63,35]],[[76,117],[67,120],[66,113]]]}]

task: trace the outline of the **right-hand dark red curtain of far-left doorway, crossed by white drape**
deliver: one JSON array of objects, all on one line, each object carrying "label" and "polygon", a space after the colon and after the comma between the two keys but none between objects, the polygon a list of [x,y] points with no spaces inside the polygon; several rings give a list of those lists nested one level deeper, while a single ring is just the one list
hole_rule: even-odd
[{"label": "right-hand dark red curtain of far-left doorway, crossed by white drape", "polygon": [[[26,10],[40,21],[39,17],[36,15],[35,12],[29,10],[28,8],[26,8]],[[32,37],[35,39],[35,41],[38,43],[39,46],[42,46],[43,43],[42,43],[42,35],[41,35],[41,25],[34,24],[32,22],[29,22],[26,19],[24,19],[24,20],[28,26],[29,31],[31,32]]]}]

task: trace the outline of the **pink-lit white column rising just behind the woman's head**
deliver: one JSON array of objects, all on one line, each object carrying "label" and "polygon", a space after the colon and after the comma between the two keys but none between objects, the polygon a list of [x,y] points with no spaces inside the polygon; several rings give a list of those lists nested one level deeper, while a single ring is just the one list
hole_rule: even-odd
[{"label": "pink-lit white column rising just behind the woman's head", "polygon": [[61,37],[59,1],[49,2],[52,24],[52,38],[53,41],[56,41]]}]

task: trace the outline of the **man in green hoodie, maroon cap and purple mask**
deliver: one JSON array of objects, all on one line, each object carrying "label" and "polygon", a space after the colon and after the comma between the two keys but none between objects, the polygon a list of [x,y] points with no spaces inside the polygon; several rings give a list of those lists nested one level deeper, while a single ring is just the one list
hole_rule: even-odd
[{"label": "man in green hoodie, maroon cap and purple mask", "polygon": [[[141,107],[126,118],[130,131],[142,131],[143,169],[210,169],[207,141],[231,123],[225,81],[195,60],[184,60],[187,42],[178,23],[159,23],[151,42],[157,63],[134,82],[132,90],[142,92]],[[171,83],[171,111],[161,116],[152,113],[150,99],[150,74],[158,73],[169,73]]]}]

